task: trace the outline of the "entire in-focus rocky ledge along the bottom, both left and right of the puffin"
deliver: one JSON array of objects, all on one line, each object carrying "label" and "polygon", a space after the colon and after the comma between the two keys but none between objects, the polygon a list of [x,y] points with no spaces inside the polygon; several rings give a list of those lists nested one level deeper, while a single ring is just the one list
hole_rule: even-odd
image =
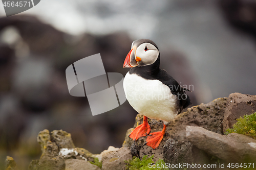
[{"label": "entire in-focus rocky ledge along the bottom, both left and right of the puffin", "polygon": [[[94,155],[82,148],[75,148],[71,135],[62,130],[49,133],[39,132],[37,141],[42,155],[33,160],[29,170],[41,169],[125,169],[124,160],[132,156],[154,155],[154,161],[163,159],[166,163],[215,164],[217,162],[255,162],[256,140],[237,133],[224,135],[232,128],[236,119],[256,112],[256,95],[232,93],[228,98],[219,98],[207,104],[188,108],[171,122],[157,149],[144,145],[145,137],[133,141],[127,130],[123,147],[110,147]],[[143,116],[138,114],[134,128],[141,124]],[[151,132],[161,131],[162,121],[148,119]],[[99,164],[102,161],[102,166]],[[90,163],[91,162],[91,163]],[[6,160],[7,169],[17,169],[11,157]],[[98,165],[98,166],[96,166]]]}]

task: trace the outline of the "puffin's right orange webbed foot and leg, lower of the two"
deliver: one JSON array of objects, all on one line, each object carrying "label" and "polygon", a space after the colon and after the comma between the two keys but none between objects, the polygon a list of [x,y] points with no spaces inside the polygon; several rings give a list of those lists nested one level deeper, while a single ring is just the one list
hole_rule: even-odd
[{"label": "puffin's right orange webbed foot and leg, lower of the two", "polygon": [[146,138],[146,145],[152,147],[153,149],[156,149],[160,142],[163,139],[163,135],[165,133],[166,125],[163,124],[163,130],[159,132],[153,132]]}]

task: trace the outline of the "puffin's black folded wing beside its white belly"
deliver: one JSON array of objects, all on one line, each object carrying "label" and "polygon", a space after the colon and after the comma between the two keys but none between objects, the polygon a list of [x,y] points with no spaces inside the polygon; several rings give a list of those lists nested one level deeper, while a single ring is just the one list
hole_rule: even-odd
[{"label": "puffin's black folded wing beside its white belly", "polygon": [[160,69],[157,75],[157,79],[161,81],[163,84],[165,84],[166,86],[168,86],[172,94],[175,94],[177,96],[177,99],[179,100],[178,106],[180,108],[179,113],[182,111],[182,109],[186,108],[191,104],[189,96],[185,92],[190,90],[184,87],[181,87],[179,83],[172,76],[170,76],[165,70]]}]

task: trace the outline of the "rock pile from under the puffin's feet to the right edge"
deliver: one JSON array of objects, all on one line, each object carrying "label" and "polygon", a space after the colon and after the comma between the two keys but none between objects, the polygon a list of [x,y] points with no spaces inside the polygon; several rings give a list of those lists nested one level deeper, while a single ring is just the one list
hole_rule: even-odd
[{"label": "rock pile from under the puffin's feet to the right edge", "polygon": [[[144,145],[146,137],[133,141],[127,130],[123,147],[131,147],[133,156],[142,158],[153,155],[170,164],[212,164],[217,161],[244,162],[256,160],[256,140],[241,134],[224,135],[237,118],[256,112],[256,95],[232,93],[228,98],[219,98],[207,104],[188,108],[176,116],[166,128],[159,147],[154,150]],[[141,124],[143,116],[138,114],[134,128]],[[150,119],[151,132],[161,131],[163,123]]]}]

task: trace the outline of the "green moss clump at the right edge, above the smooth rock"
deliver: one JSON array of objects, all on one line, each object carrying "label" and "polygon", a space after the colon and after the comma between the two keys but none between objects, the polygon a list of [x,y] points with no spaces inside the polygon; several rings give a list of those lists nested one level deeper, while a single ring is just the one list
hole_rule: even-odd
[{"label": "green moss clump at the right edge, above the smooth rock", "polygon": [[256,139],[256,112],[251,115],[244,115],[244,118],[240,117],[237,120],[238,122],[233,125],[233,128],[227,129],[225,134],[239,133]]}]

